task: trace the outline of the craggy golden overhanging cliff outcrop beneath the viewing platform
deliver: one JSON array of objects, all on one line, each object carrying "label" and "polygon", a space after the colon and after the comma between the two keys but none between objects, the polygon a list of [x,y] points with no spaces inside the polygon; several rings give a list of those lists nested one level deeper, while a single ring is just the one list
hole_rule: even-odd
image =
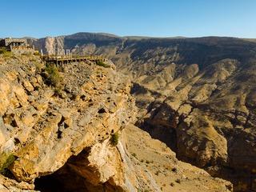
[{"label": "craggy golden overhanging cliff outcrop beneath the viewing platform", "polygon": [[[1,159],[2,174],[26,183],[36,178],[40,184],[40,177],[69,166],[82,182],[90,183],[88,191],[103,185],[135,189],[136,179],[125,177],[123,157],[110,142],[134,114],[125,75],[118,74],[111,62],[107,68],[72,63],[59,67],[61,87],[54,88],[46,85],[39,58],[1,59],[1,158],[6,157]],[[129,181],[132,184],[126,186]]]}]

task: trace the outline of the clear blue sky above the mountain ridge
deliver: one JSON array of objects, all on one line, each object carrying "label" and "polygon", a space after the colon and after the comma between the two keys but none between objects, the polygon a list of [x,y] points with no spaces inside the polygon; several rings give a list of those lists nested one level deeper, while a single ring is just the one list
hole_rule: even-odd
[{"label": "clear blue sky above the mountain ridge", "polygon": [[77,32],[256,38],[256,0],[1,0],[0,37]]}]

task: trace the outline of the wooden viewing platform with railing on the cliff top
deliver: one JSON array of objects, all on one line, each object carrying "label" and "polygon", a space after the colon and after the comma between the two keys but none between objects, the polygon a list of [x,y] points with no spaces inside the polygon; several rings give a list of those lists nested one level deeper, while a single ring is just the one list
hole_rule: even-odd
[{"label": "wooden viewing platform with railing on the cliff top", "polygon": [[50,55],[44,54],[41,58],[45,62],[52,62],[56,65],[66,64],[70,62],[105,62],[106,59],[100,55],[79,55],[79,54],[66,54],[66,55]]}]

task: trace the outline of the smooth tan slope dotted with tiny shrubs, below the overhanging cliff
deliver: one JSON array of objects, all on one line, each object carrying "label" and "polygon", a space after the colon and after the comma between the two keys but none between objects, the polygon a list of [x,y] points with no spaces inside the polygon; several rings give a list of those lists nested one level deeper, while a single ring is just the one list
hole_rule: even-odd
[{"label": "smooth tan slope dotted with tiny shrubs, below the overhanging cliff", "polygon": [[[128,125],[122,132],[142,191],[233,191],[230,182],[212,178],[206,171],[178,161],[166,144],[152,139],[150,134],[134,125]],[[148,176],[148,179],[145,179]],[[157,186],[150,190],[150,186]]]}]

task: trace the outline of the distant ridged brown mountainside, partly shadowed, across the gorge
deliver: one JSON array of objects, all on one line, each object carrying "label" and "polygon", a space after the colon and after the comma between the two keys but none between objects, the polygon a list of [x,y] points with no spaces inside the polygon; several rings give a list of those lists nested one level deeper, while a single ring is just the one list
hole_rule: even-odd
[{"label": "distant ridged brown mountainside, partly shadowed, across the gorge", "polygon": [[256,190],[254,39],[79,33],[33,43],[110,58],[134,82],[137,126],[234,190]]}]

